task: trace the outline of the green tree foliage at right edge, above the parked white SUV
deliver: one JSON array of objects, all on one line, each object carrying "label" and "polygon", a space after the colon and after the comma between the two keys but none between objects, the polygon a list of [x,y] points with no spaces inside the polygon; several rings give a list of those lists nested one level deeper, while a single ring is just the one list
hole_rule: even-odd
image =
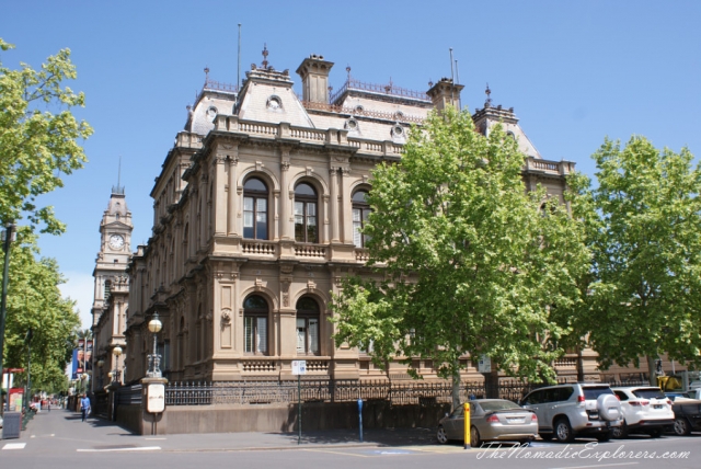
[{"label": "green tree foliage at right edge, above the parked white SUV", "polygon": [[[658,150],[643,137],[594,155],[598,187],[571,181],[574,215],[586,220],[593,270],[577,329],[602,367],[648,368],[659,353],[701,364],[701,171],[688,149]],[[651,373],[651,377],[653,373]]]}]

